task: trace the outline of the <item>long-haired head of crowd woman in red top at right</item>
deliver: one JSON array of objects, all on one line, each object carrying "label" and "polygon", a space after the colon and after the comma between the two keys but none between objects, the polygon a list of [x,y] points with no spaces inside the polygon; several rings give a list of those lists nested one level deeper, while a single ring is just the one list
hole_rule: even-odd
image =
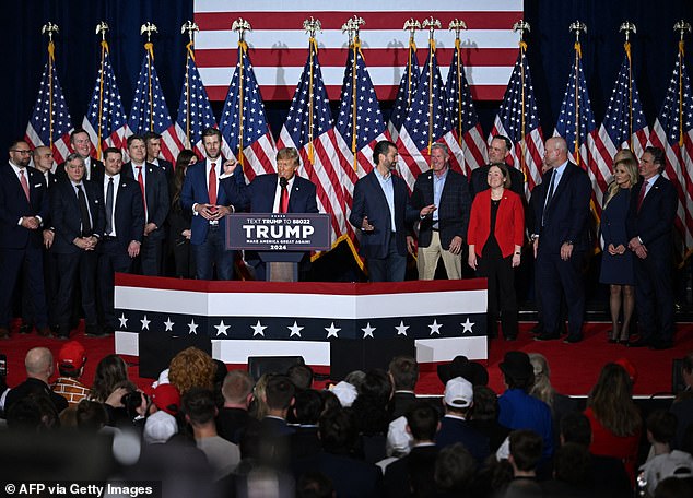
[{"label": "long-haired head of crowd woman in red top at right", "polygon": [[627,371],[620,365],[608,363],[587,398],[587,406],[597,420],[614,435],[632,436],[642,426],[632,392],[633,383]]}]

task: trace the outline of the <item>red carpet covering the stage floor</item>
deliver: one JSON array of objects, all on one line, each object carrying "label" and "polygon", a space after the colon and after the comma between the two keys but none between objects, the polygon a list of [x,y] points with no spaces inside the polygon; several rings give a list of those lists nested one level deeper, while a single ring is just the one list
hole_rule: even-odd
[{"label": "red carpet covering the stage floor", "polygon": [[[503,392],[503,378],[498,364],[503,360],[503,355],[509,349],[520,349],[527,353],[541,353],[549,360],[551,368],[551,381],[553,386],[564,394],[586,395],[599,375],[601,367],[618,358],[627,358],[635,365],[638,378],[635,383],[634,393],[639,395],[651,395],[655,393],[669,392],[671,390],[671,364],[672,359],[683,357],[688,352],[693,351],[693,324],[679,323],[677,325],[676,347],[668,351],[651,351],[648,348],[626,348],[618,344],[607,343],[607,330],[610,323],[587,323],[585,325],[585,340],[578,344],[563,344],[561,341],[537,342],[528,333],[533,323],[522,323],[520,325],[519,339],[515,342],[494,340],[491,342],[489,351],[489,377],[490,387],[496,392]],[[14,327],[16,331],[17,327]],[[84,383],[91,384],[94,377],[96,364],[105,355],[114,352],[114,339],[92,339],[85,337],[82,328],[77,339],[87,351],[87,361],[84,369]],[[32,347],[46,346],[58,354],[62,341],[56,339],[38,337],[35,333],[21,335],[16,332],[10,340],[0,342],[0,354],[8,357],[8,383],[15,386],[24,377],[24,356]],[[124,357],[128,363],[134,363],[137,358]],[[234,366],[240,367],[240,366]],[[435,366],[422,368],[421,379],[418,386],[418,393],[438,395],[443,392],[443,384],[438,380]],[[316,371],[327,374],[325,368],[316,368]],[[150,379],[140,379],[137,366],[129,368],[130,378],[140,387],[146,388],[151,384]],[[317,387],[321,387],[319,383]]]}]

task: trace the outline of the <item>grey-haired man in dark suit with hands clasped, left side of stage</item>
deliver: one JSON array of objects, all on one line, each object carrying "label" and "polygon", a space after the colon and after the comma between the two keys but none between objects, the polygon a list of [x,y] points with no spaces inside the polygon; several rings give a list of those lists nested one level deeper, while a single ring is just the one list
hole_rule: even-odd
[{"label": "grey-haired man in dark suit with hands clasped, left side of stage", "polygon": [[99,336],[96,313],[96,245],[104,233],[104,206],[101,189],[85,181],[84,159],[77,153],[67,157],[67,177],[50,194],[50,213],[56,235],[52,252],[60,269],[55,315],[58,336],[70,335],[70,315],[75,284],[80,283],[85,332]]}]

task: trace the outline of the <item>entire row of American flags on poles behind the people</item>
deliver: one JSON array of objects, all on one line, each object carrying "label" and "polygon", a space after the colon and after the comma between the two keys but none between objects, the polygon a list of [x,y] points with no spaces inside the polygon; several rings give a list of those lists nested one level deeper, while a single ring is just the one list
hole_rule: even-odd
[{"label": "entire row of American flags on poles behind the people", "polygon": [[[486,140],[471,98],[459,37],[446,81],[441,75],[433,31],[423,67],[419,66],[418,49],[413,38],[410,39],[407,64],[388,122],[383,118],[361,43],[356,31],[350,38],[339,112],[333,117],[321,75],[318,43],[315,34],[310,34],[303,73],[286,121],[274,141],[243,39],[238,42],[237,63],[219,122],[196,66],[192,42],[187,46],[186,74],[177,119],[173,121],[156,75],[153,44],[145,44],[128,115],[118,92],[108,44],[103,40],[99,70],[82,127],[90,133],[96,155],[106,146],[125,149],[129,134],[155,131],[163,137],[162,154],[172,162],[184,147],[202,155],[202,131],[219,127],[224,155],[233,154],[239,159],[248,181],[257,175],[274,171],[278,149],[294,146],[302,156],[299,174],[317,186],[321,211],[333,214],[334,244],[342,239],[355,240],[348,223],[353,186],[373,169],[373,146],[383,139],[398,144],[400,174],[410,188],[416,176],[428,169],[431,144],[446,143],[451,151],[451,167],[469,174],[486,162],[486,142],[495,134],[504,134],[513,141],[512,162],[525,174],[527,195],[541,181],[543,133],[525,42],[520,40],[515,67]],[[666,176],[679,193],[677,225],[684,256],[688,256],[693,249],[693,95],[684,64],[684,45],[679,44],[667,95],[651,131],[641,108],[627,42],[624,48],[606,116],[597,126],[583,73],[580,45],[575,44],[574,64],[554,134],[566,139],[572,161],[589,174],[597,217],[611,181],[610,167],[615,152],[631,147],[639,156],[648,144],[662,147],[667,153]],[[56,161],[63,161],[69,153],[72,120],[58,81],[54,50],[50,42],[26,135],[34,146],[51,145]]]}]

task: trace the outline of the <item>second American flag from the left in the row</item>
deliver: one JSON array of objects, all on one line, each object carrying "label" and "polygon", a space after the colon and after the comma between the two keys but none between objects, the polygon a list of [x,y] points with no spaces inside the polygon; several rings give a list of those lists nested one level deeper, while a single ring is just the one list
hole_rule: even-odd
[{"label": "second American flag from the left in the row", "polygon": [[101,64],[96,74],[96,83],[89,109],[82,121],[82,128],[89,133],[96,147],[97,159],[101,159],[103,151],[107,147],[126,149],[126,137],[128,135],[126,118],[118,82],[110,64],[108,43],[102,40]]}]

